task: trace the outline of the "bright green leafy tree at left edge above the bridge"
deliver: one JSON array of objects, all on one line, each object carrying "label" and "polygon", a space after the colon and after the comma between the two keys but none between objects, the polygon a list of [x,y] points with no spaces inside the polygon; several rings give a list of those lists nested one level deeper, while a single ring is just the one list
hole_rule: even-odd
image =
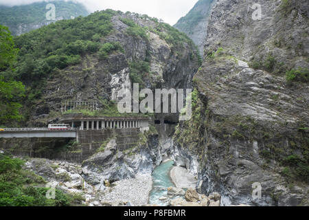
[{"label": "bright green leafy tree at left edge above the bridge", "polygon": [[16,61],[18,50],[14,46],[12,35],[8,28],[0,25],[0,124],[10,120],[21,120],[19,114],[20,100],[25,95],[23,83],[12,79],[5,79],[3,71],[10,69]]}]

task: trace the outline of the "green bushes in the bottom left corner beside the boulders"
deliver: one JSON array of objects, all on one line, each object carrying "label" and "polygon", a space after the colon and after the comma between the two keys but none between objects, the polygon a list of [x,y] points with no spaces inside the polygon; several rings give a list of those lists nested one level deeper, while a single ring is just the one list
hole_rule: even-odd
[{"label": "green bushes in the bottom left corner beside the boulders", "polygon": [[0,206],[73,206],[81,202],[77,195],[56,189],[56,199],[47,199],[45,180],[23,170],[24,161],[0,154]]}]

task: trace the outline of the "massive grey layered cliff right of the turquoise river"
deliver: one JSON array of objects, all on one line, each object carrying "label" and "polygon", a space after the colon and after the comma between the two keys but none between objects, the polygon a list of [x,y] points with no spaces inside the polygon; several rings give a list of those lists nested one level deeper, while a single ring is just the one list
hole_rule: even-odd
[{"label": "massive grey layered cliff right of the turquoise river", "polygon": [[211,10],[174,157],[222,205],[308,205],[308,2],[259,1],[260,20],[255,3],[218,0]]}]

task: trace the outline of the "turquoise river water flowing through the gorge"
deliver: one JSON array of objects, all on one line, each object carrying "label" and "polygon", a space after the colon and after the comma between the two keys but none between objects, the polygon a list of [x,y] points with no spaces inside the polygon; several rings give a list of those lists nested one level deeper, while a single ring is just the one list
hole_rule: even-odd
[{"label": "turquoise river water flowing through the gorge", "polygon": [[158,206],[168,206],[168,201],[160,201],[161,197],[168,197],[167,188],[174,186],[170,179],[170,169],[174,166],[172,160],[162,163],[157,166],[152,173],[153,186],[150,191],[149,203],[156,204]]}]

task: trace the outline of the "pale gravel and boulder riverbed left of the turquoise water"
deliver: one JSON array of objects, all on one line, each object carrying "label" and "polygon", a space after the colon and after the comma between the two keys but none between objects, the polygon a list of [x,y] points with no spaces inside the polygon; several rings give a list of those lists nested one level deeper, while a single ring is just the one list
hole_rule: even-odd
[{"label": "pale gravel and boulder riverbed left of the turquoise water", "polygon": [[81,195],[85,206],[144,206],[152,188],[150,175],[136,175],[112,184],[104,179],[96,185],[89,184],[85,180],[90,172],[87,168],[49,159],[27,159],[25,169],[41,175],[47,187]]}]

